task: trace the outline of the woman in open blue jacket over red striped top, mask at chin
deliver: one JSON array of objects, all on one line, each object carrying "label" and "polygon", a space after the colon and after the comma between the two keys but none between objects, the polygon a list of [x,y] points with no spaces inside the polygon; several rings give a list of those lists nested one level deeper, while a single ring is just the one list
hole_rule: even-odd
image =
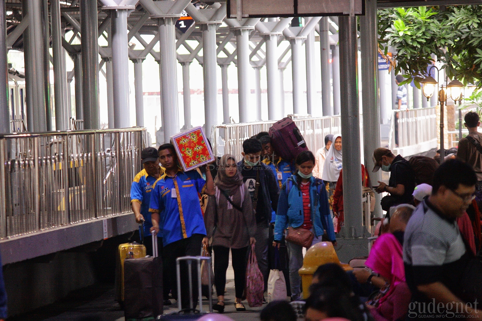
[{"label": "woman in open blue jacket over red striped top, mask at chin", "polygon": [[[280,246],[287,227],[302,227],[314,234],[312,245],[321,242],[326,231],[328,239],[336,244],[333,220],[326,188],[321,179],[313,177],[315,157],[310,151],[301,152],[296,158],[296,174],[283,184],[280,190],[278,211],[274,227],[273,246]],[[303,246],[286,241],[290,257],[291,299],[301,298],[301,277],[298,270],[303,266]]]}]

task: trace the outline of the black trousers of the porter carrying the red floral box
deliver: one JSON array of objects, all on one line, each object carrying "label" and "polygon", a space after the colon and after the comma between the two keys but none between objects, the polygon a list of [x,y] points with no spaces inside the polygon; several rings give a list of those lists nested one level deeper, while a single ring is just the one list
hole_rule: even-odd
[{"label": "black trousers of the porter carrying the red floral box", "polygon": [[[166,264],[166,274],[169,280],[174,282],[172,286],[173,296],[177,296],[177,278],[176,278],[176,258],[181,256],[199,256],[201,255],[201,241],[204,238],[202,234],[193,234],[187,239],[182,239],[167,244],[162,249],[162,258]],[[189,293],[189,279],[187,276],[187,264],[181,263],[181,307],[189,308],[189,296],[192,295],[193,308],[196,308],[198,301],[198,267],[196,263],[192,265],[192,294]]]}]

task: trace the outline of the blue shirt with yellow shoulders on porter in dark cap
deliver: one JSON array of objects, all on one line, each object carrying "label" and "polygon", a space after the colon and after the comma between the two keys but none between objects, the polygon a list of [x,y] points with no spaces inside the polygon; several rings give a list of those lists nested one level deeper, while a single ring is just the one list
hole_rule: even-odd
[{"label": "blue shirt with yellow shoulders on porter in dark cap", "polygon": [[[160,174],[164,174],[164,169],[162,167]],[[151,235],[149,229],[152,227],[152,221],[150,218],[149,203],[152,188],[154,188],[156,180],[157,179],[154,176],[147,175],[146,170],[143,169],[135,175],[134,181],[131,185],[131,203],[141,203],[141,214],[146,220],[144,222],[144,236]],[[157,236],[161,237],[161,232],[159,232]]]}]

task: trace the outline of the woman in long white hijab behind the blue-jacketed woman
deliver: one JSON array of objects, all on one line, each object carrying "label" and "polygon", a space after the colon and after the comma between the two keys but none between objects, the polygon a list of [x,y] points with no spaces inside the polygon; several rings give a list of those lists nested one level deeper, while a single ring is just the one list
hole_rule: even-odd
[{"label": "woman in long white hijab behind the blue-jacketed woman", "polygon": [[341,135],[337,134],[333,137],[333,144],[326,154],[326,160],[323,165],[323,174],[321,179],[325,183],[328,193],[328,202],[330,210],[333,210],[333,194],[335,194],[336,182],[340,176],[342,169],[343,154],[341,150]]}]

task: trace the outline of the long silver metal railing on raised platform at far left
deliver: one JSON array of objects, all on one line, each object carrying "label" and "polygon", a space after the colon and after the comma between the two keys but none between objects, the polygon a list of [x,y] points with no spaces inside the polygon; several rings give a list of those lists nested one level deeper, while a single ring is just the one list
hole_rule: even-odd
[{"label": "long silver metal railing on raised platform at far left", "polygon": [[131,211],[145,128],[0,135],[0,238]]}]

